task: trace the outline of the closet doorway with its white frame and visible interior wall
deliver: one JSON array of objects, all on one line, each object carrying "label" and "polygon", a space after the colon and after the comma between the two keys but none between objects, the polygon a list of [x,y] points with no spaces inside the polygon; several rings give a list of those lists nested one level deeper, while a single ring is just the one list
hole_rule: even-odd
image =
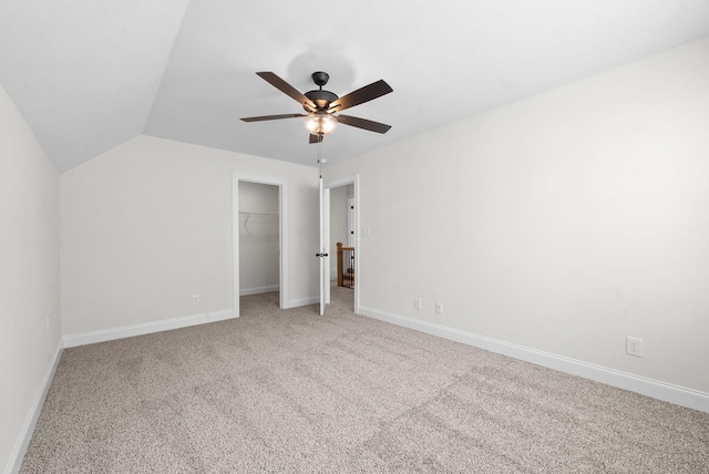
[{"label": "closet doorway with its white frame and visible interior wall", "polygon": [[278,291],[284,308],[284,185],[235,176],[233,195],[234,317],[245,295]]}]

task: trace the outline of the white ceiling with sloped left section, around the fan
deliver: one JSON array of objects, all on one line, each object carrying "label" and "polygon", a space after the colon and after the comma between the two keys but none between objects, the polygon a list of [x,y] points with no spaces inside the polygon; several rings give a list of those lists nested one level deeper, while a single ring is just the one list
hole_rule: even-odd
[{"label": "white ceiling with sloped left section, around the fan", "polygon": [[709,35],[708,0],[0,0],[0,84],[58,169],[140,134],[316,165],[300,113],[258,78],[343,95],[330,163]]}]

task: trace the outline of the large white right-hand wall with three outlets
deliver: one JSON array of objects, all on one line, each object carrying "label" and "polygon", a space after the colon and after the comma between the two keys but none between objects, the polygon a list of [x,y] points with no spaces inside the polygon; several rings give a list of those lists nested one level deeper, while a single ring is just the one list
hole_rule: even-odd
[{"label": "large white right-hand wall with three outlets", "polygon": [[363,308],[709,392],[709,38],[325,177],[353,173]]}]

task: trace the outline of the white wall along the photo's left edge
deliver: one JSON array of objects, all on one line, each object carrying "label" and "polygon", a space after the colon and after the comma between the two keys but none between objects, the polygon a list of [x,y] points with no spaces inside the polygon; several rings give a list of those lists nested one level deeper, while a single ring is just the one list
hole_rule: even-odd
[{"label": "white wall along the photo's left edge", "polygon": [[59,174],[2,86],[0,221],[0,467],[9,472],[60,349]]}]

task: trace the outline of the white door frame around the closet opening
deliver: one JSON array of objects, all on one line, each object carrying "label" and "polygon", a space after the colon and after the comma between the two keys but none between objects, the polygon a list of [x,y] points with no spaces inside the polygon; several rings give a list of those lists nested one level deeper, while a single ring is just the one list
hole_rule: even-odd
[{"label": "white door frame around the closet opening", "polygon": [[239,317],[239,182],[266,184],[278,187],[278,286],[281,309],[288,301],[288,186],[285,181],[270,176],[232,174],[232,308],[234,318]]}]

